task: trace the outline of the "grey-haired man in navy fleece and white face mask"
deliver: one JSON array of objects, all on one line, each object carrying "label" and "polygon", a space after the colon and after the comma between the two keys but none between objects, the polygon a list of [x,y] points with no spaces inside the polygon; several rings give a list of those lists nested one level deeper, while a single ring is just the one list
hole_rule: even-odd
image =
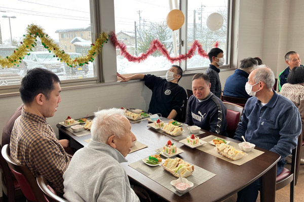
[{"label": "grey-haired man in navy fleece and white face mask", "polygon": [[[274,83],[275,75],[267,67],[249,74],[245,89],[252,97],[247,100],[234,139],[243,141],[243,135],[246,141],[279,154],[279,175],[286,164],[284,159],[297,145],[302,126],[298,109],[273,90]],[[258,189],[259,179],[239,191],[237,201],[256,201]]]}]

